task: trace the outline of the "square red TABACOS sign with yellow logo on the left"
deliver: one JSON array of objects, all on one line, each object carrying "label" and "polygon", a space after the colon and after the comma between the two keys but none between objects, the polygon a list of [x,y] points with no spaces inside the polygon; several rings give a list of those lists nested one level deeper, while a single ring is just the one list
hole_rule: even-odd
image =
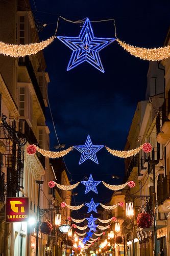
[{"label": "square red TABACOS sign with yellow logo on the left", "polygon": [[9,197],[6,201],[6,221],[27,221],[29,214],[28,197]]}]

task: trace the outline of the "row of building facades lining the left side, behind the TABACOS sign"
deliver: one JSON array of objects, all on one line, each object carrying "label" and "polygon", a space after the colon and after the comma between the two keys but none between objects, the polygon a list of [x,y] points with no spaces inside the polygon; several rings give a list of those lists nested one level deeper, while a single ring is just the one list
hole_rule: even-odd
[{"label": "row of building facades lining the left side, behind the TABACOS sign", "polygon": [[[0,4],[0,14],[2,41],[9,44],[39,41],[28,0],[3,1]],[[62,194],[57,189],[50,189],[47,184],[56,179],[61,180],[61,184],[69,184],[64,166],[61,168],[57,163],[56,166],[59,167],[55,170],[48,158],[40,154],[30,156],[26,151],[30,144],[37,144],[44,150],[50,148],[50,131],[45,123],[47,84],[50,79],[45,68],[42,51],[19,58],[0,56],[0,255],[35,255],[36,225],[6,222],[5,206],[7,197],[28,197],[29,217],[37,218],[36,180],[43,181],[40,188],[40,221],[48,220],[54,224],[55,214],[60,211],[62,223],[66,223],[67,216],[70,215],[66,209],[59,209],[64,200],[70,204],[70,191]],[[61,234],[60,237],[57,236],[57,228],[53,228],[53,231],[47,236],[39,230],[39,255],[46,255],[46,244],[52,244],[53,255],[64,254],[63,237]],[[56,249],[57,246],[59,250]]]}]

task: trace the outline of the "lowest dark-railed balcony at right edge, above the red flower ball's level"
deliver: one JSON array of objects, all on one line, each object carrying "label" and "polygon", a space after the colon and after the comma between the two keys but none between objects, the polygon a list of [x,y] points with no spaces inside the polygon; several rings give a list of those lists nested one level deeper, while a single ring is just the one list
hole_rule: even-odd
[{"label": "lowest dark-railed balcony at right edge, above the red flower ball's level", "polygon": [[170,211],[170,177],[166,175],[162,181],[158,182],[158,210],[160,213],[168,213]]}]

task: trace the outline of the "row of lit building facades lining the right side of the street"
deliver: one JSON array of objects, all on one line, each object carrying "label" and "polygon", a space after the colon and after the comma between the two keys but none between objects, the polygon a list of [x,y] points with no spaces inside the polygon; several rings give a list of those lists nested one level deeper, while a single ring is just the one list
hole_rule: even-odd
[{"label": "row of lit building facades lining the right side of the street", "polygon": [[[169,34],[167,36],[169,38]],[[166,39],[165,45],[169,44]],[[152,152],[139,154],[125,160],[125,177],[134,180],[134,188],[125,188],[126,202],[134,205],[134,232],[127,236],[128,255],[169,255],[168,232],[168,201],[169,201],[169,148],[168,141],[168,92],[169,92],[169,60],[150,62],[148,71],[148,86],[145,100],[138,102],[125,150],[138,147],[149,142],[152,144]],[[155,168],[155,171],[154,171]],[[155,172],[155,175],[154,175]],[[154,190],[155,189],[155,190]],[[153,216],[154,193],[156,193],[156,232],[154,225],[149,229],[137,226],[136,218],[140,212],[149,212]],[[154,242],[156,237],[156,247]],[[136,240],[135,240],[136,238]],[[138,240],[138,241],[137,241]],[[137,241],[134,243],[134,241]],[[133,254],[135,251],[135,254]]]}]

